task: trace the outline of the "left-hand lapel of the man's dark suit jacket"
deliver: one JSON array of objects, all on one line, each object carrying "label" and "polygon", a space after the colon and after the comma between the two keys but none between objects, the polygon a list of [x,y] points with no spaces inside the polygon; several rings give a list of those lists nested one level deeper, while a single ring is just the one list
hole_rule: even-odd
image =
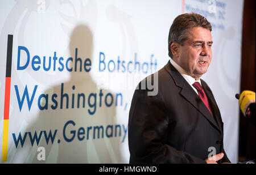
[{"label": "left-hand lapel of the man's dark suit jacket", "polygon": [[203,116],[207,118],[208,121],[212,123],[216,127],[216,129],[221,133],[221,130],[219,129],[212,114],[210,114],[209,110],[207,109],[207,106],[205,106],[200,97],[196,94],[196,92],[192,89],[188,82],[183,78],[183,76],[175,69],[175,67],[172,66],[170,62],[168,62],[167,65],[164,66],[164,69],[166,69],[170,73],[170,75],[174,79],[176,86],[179,86],[181,88],[180,95],[183,96],[186,100],[188,100],[189,103],[192,104],[197,110],[199,110],[199,112],[203,114]]}]

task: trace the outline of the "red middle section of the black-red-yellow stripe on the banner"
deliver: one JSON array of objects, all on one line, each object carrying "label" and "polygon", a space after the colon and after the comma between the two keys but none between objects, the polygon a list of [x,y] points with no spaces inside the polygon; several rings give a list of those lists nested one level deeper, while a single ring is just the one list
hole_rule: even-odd
[{"label": "red middle section of the black-red-yellow stripe on the banner", "polygon": [[5,78],[5,109],[3,119],[9,119],[11,78]]}]

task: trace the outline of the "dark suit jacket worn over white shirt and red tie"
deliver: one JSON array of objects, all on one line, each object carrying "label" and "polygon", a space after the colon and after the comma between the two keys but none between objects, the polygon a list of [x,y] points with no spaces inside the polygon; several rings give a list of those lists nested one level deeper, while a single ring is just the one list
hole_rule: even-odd
[{"label": "dark suit jacket worn over white shirt and red tie", "polygon": [[206,163],[214,149],[225,154],[218,163],[230,162],[220,110],[210,88],[203,80],[201,84],[213,116],[170,62],[158,71],[156,96],[148,96],[148,89],[135,90],[129,113],[130,163]]}]

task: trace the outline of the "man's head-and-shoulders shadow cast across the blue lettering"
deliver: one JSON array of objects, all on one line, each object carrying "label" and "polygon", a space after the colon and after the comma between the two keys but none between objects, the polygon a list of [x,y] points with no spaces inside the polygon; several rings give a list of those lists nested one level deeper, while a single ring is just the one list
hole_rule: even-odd
[{"label": "man's head-and-shoulders shadow cast across the blue lettering", "polygon": [[[109,95],[112,93],[106,89],[98,89],[84,68],[85,59],[92,58],[93,53],[93,36],[89,27],[78,25],[73,30],[69,50],[73,58],[69,61],[72,64],[68,65],[72,69],[69,81],[44,92],[48,97],[42,97],[40,105],[43,108],[48,106],[48,109],[40,110],[37,120],[26,129],[31,131],[32,137],[36,131],[38,138],[43,131],[38,145],[35,139],[31,147],[27,134],[23,148],[19,144],[17,151],[28,150],[24,163],[119,163],[122,159],[122,137],[119,135],[123,129],[116,126],[115,97],[112,98]],[[76,57],[81,61],[75,61]],[[87,65],[86,69],[89,67]],[[49,131],[52,137],[55,135],[53,143],[49,139],[47,144],[44,131],[48,136]],[[39,147],[46,150],[45,161],[38,160]]]}]

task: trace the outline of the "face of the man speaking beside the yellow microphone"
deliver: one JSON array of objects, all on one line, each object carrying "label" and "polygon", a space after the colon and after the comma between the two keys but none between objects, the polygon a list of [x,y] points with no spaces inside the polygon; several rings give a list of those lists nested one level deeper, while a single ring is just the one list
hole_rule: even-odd
[{"label": "face of the man speaking beside the yellow microphone", "polygon": [[180,45],[175,61],[195,79],[199,79],[212,61],[212,35],[208,29],[193,27],[187,32],[187,40]]}]

